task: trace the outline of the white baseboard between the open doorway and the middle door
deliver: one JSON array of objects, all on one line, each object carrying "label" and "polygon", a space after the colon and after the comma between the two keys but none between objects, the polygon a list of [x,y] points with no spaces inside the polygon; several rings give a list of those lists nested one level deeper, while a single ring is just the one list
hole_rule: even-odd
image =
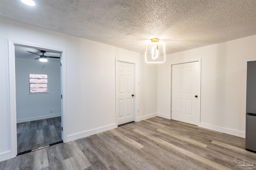
[{"label": "white baseboard between the open doorway and the middle door", "polygon": [[88,137],[90,135],[94,135],[94,134],[97,134],[97,133],[102,133],[104,131],[114,129],[116,127],[117,127],[117,124],[115,123],[115,124],[112,124],[112,125],[92,129],[92,130],[89,130],[89,131],[84,131],[84,132],[76,133],[76,134],[73,134],[73,135],[68,135],[67,142],[74,141],[76,139],[80,139],[80,138],[83,138],[83,137]]}]

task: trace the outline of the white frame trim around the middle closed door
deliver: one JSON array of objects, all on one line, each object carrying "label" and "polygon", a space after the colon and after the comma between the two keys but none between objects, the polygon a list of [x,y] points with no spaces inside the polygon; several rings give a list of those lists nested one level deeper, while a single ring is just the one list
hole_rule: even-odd
[{"label": "white frame trim around the middle closed door", "polygon": [[[133,88],[134,88],[134,101],[133,101],[133,115],[134,115],[134,121],[136,122],[136,120],[137,120],[137,114],[136,114],[136,111],[135,111],[135,108],[136,108],[136,88],[135,88],[135,85],[136,85],[136,74],[135,74],[135,71],[136,71],[136,69],[135,69],[135,67],[136,67],[136,65],[137,65],[137,63],[136,63],[136,61],[130,61],[130,60],[125,60],[125,59],[118,59],[118,58],[116,58],[115,59],[116,60],[116,62],[115,62],[115,82],[116,82],[116,84],[115,84],[115,91],[116,91],[116,85],[117,85],[117,72],[116,72],[116,70],[117,70],[117,62],[118,61],[120,61],[120,62],[123,62],[123,63],[131,63],[131,64],[133,64],[134,65],[134,72],[133,72],[133,74],[134,74],[134,77],[133,77],[133,79],[134,79],[134,86],[133,86]],[[116,92],[116,127],[118,126],[118,122],[117,122],[117,120],[118,120],[118,115],[117,115],[117,92]]]}]

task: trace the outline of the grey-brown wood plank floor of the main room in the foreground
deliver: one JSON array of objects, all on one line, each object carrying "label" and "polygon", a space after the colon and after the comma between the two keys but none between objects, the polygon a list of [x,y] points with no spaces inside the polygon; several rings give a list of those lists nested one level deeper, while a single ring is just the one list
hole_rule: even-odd
[{"label": "grey-brown wood plank floor of the main room in the foreground", "polygon": [[[245,139],[153,117],[0,162],[1,170],[226,170],[256,164]],[[256,169],[256,168],[255,168]]]}]

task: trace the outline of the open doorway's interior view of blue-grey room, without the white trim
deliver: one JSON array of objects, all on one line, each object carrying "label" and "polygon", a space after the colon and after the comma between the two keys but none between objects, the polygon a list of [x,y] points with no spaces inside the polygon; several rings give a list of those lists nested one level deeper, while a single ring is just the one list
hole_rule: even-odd
[{"label": "open doorway's interior view of blue-grey room, without the white trim", "polygon": [[[14,48],[17,155],[20,155],[63,142],[61,53],[17,45]],[[47,62],[41,62],[41,57],[47,57]]]}]

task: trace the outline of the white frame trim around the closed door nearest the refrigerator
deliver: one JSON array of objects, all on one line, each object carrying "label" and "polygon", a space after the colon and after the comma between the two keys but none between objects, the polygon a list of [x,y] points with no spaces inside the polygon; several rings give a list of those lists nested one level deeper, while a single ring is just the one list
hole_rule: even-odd
[{"label": "white frame trim around the closed door nearest the refrigerator", "polygon": [[176,64],[185,64],[185,63],[193,63],[198,61],[198,96],[200,96],[198,107],[199,107],[199,120],[198,120],[198,126],[200,125],[201,122],[201,58],[200,59],[193,59],[193,60],[187,60],[187,61],[180,61],[176,63],[171,63],[170,64],[170,91],[171,91],[171,96],[170,96],[170,119],[172,119],[172,65]]}]

